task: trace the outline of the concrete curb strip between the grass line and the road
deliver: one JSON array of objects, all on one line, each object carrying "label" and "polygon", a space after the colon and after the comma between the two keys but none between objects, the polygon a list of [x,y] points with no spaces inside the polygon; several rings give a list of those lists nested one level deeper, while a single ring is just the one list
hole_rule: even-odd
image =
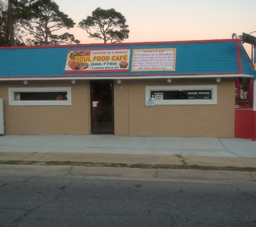
[{"label": "concrete curb strip between the grass line and the road", "polygon": [[127,167],[0,165],[0,175],[45,178],[108,176],[123,178],[256,182],[255,172],[203,171],[192,169],[142,169]]}]

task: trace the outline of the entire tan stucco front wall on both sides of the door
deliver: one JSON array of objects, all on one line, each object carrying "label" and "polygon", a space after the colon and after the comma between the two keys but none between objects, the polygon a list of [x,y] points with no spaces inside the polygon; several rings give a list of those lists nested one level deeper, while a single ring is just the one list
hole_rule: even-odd
[{"label": "entire tan stucco front wall on both sides of the door", "polygon": [[[146,107],[146,86],[217,84],[217,105]],[[10,106],[9,87],[71,87],[70,106]],[[234,137],[234,79],[114,81],[117,136]],[[5,134],[91,134],[89,81],[0,82]]]}]

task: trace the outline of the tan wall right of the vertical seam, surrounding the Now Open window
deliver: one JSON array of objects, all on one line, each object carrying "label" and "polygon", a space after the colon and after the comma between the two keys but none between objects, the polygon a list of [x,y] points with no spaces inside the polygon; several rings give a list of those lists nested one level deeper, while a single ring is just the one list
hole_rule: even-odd
[{"label": "tan wall right of the vertical seam, surrounding the Now Open window", "polygon": [[[217,105],[146,107],[146,86],[217,84]],[[129,82],[129,136],[234,137],[234,80]]]}]

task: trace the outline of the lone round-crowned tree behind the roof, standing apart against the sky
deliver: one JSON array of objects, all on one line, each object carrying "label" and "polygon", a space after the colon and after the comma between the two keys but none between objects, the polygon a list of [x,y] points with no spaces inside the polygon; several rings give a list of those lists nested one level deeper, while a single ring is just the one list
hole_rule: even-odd
[{"label": "lone round-crowned tree behind the roof, standing apart against the sky", "polygon": [[115,9],[103,10],[97,8],[92,16],[79,22],[78,27],[89,34],[89,38],[102,39],[104,43],[121,42],[129,38],[126,19]]}]

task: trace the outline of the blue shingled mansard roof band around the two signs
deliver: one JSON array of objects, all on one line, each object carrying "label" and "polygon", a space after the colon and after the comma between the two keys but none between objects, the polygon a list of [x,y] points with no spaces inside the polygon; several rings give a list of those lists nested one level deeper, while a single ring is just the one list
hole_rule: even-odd
[{"label": "blue shingled mansard roof band around the two signs", "polygon": [[[240,62],[236,41],[189,42],[181,44],[136,44],[118,46],[58,46],[47,48],[0,48],[0,77],[40,77],[40,76],[78,76],[77,73],[64,73],[69,49],[120,49],[130,48],[130,62],[133,49],[176,48],[175,71],[93,73],[95,76],[108,75],[186,75],[186,74],[242,74],[253,76],[253,66],[246,51],[239,43]],[[92,75],[92,73],[90,73]],[[88,75],[87,73],[79,73]]]}]

